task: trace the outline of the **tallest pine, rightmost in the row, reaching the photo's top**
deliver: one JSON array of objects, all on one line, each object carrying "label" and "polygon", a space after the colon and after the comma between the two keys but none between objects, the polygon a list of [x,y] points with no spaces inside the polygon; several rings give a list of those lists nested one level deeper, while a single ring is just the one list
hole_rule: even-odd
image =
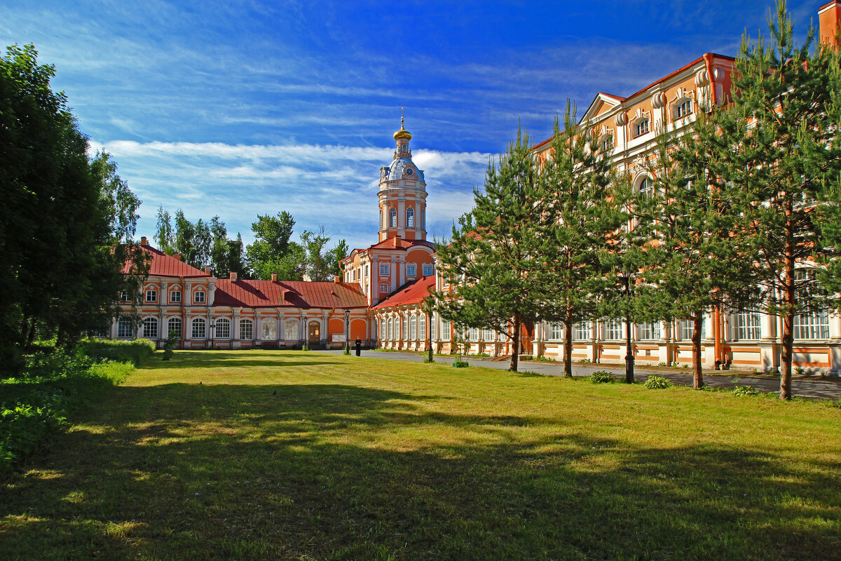
[{"label": "tallest pine, rightmost in the row, reaching the photo's top", "polygon": [[733,103],[715,111],[715,128],[699,136],[715,186],[732,193],[743,216],[734,230],[742,258],[757,264],[762,309],[783,323],[780,399],[791,398],[794,321],[826,304],[816,275],[806,270],[825,251],[815,202],[838,182],[837,122],[831,95],[838,58],[794,40],[785,3],[770,20],[770,38],[743,38],[733,71]]}]

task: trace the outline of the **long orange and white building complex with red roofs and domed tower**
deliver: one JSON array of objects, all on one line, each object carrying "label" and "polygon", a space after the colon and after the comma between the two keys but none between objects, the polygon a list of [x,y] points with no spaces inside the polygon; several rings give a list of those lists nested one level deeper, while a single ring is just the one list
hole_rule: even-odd
[{"label": "long orange and white building complex with red roofs and domed tower", "polygon": [[[822,43],[838,45],[841,0],[822,6],[818,17]],[[727,103],[733,63],[731,56],[706,53],[627,97],[597,93],[582,122],[597,131],[616,169],[627,172],[637,190],[652,189],[645,159],[655,147],[655,131],[680,134],[706,104]],[[471,354],[510,354],[510,341],[494,331],[468,329],[457,337],[449,322],[436,315],[430,322],[424,311],[431,291],[445,287],[436,274],[434,246],[426,240],[426,177],[412,161],[411,138],[401,118],[394,157],[380,170],[378,242],[343,259],[335,282],[213,278],[147,246],[144,238],[152,259],[142,301],[123,302],[126,314],[140,314],[142,325],[135,330],[128,317],[119,318],[108,335],[145,336],[162,345],[174,330],[182,348],[341,346],[347,337],[367,346],[420,351],[431,341],[436,352],[449,352],[458,340]],[[550,140],[535,147],[538,157],[546,155]],[[690,331],[680,320],[633,325],[637,363],[689,365]],[[704,320],[701,360],[707,367],[778,368],[781,333],[775,315],[712,311]],[[564,338],[563,325],[526,325],[520,352],[562,359]],[[795,341],[795,367],[841,373],[841,316],[799,316]],[[621,363],[624,355],[621,319],[574,326],[574,360]]]}]

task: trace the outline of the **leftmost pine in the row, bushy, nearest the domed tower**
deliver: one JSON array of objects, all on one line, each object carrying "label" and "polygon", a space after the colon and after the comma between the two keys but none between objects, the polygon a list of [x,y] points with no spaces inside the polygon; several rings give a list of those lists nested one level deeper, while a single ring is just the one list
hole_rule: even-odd
[{"label": "leftmost pine in the row, bushy, nearest the domed tower", "polygon": [[435,294],[437,313],[455,324],[510,338],[514,371],[521,329],[537,320],[546,300],[537,282],[539,194],[529,137],[517,130],[505,154],[489,163],[484,188],[473,190],[473,209],[453,225],[452,239],[436,247],[448,283]]}]

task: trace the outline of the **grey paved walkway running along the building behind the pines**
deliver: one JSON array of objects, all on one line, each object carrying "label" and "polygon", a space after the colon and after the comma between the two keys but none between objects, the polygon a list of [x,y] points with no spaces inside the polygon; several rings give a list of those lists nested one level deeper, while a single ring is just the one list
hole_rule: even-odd
[{"label": "grey paved walkway running along the building behind the pines", "polygon": [[[330,352],[331,354],[339,354],[340,351],[320,351]],[[367,358],[382,358],[384,360],[400,360],[411,363],[422,363],[426,355],[418,355],[415,352],[383,352],[383,351],[362,351],[362,357]],[[436,363],[452,363],[452,357],[435,357]],[[470,366],[484,366],[485,368],[496,368],[498,370],[506,370],[510,366],[510,361],[491,361],[491,360],[477,360],[468,358]],[[521,372],[534,372],[546,376],[563,376],[563,363],[544,363],[521,361],[519,368]],[[625,367],[595,364],[584,365],[581,363],[573,363],[574,376],[590,376],[595,370],[606,370],[614,374],[617,378],[625,379]],[[692,374],[688,372],[674,372],[674,371],[653,371],[646,370],[645,367],[634,368],[634,379],[637,382],[644,382],[648,376],[656,374],[669,378],[674,384],[683,386],[692,385]],[[713,374],[704,373],[704,384],[715,388],[733,388],[733,373],[727,374]],[[764,392],[775,393],[780,391],[780,378],[753,378],[750,376],[740,376],[738,378],[738,385],[750,385],[754,388]],[[791,380],[791,393],[796,397],[803,397],[810,400],[838,400],[841,399],[841,380],[835,378],[834,380],[821,379],[793,379]]]}]

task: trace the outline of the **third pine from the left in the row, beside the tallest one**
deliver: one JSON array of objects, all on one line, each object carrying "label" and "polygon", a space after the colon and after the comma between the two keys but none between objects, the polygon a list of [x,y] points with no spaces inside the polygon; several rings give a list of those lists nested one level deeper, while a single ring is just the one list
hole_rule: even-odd
[{"label": "third pine from the left in the row, beside the tallest one", "polygon": [[701,374],[701,329],[705,312],[735,310],[755,299],[754,267],[733,243],[738,213],[727,183],[714,186],[697,136],[715,135],[701,106],[693,122],[661,130],[648,159],[650,190],[636,193],[632,237],[640,267],[639,304],[648,317],[692,322],[694,387]]}]

